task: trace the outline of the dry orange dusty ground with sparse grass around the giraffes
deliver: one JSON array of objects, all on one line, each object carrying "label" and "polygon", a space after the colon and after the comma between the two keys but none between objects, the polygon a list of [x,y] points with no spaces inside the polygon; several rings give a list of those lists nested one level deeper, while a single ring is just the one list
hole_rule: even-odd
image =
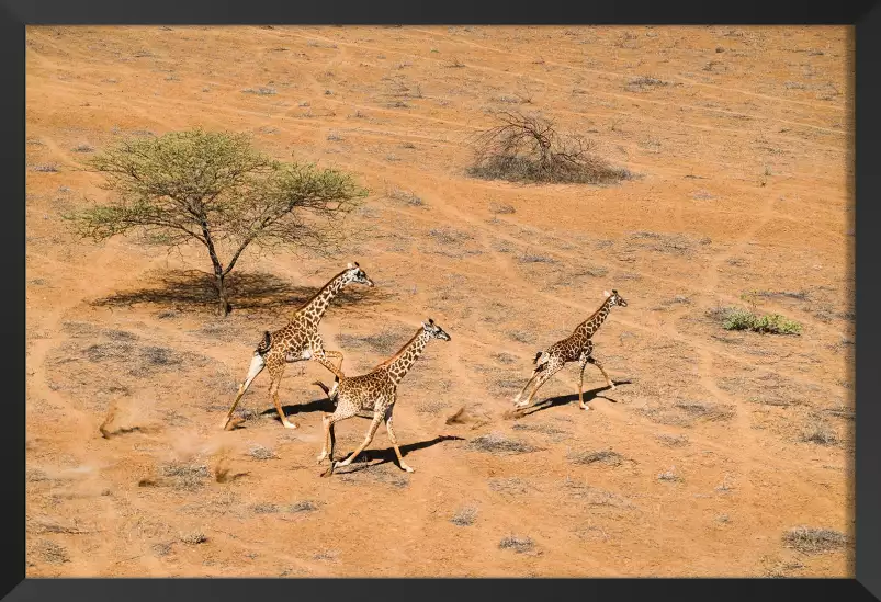
[{"label": "dry orange dusty ground with sparse grass around the giraffes", "polygon": [[[784,539],[852,533],[849,48],[844,27],[30,29],[29,576],[852,575],[852,544]],[[499,107],[641,178],[470,179],[464,143]],[[251,255],[222,320],[184,273],[197,250],[65,230],[104,194],[82,157],[196,124],[357,173],[371,238]],[[376,287],[321,325],[347,372],[428,317],[453,339],[400,386],[411,475],[381,430],[319,478],[317,365],[282,385],[298,430],[264,376],[217,429],[260,333],[352,259]],[[605,288],[630,304],[595,338],[621,385],[588,367],[579,411],[571,365],[506,418]],[[750,291],[803,334],[708,316]],[[342,423],[338,453],[368,424]]]}]

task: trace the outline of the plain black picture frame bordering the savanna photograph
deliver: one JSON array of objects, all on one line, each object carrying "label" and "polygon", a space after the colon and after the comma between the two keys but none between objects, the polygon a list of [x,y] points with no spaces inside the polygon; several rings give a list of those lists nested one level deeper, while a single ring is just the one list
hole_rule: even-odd
[{"label": "plain black picture frame bordering the savanna photograph", "polygon": [[[856,337],[856,578],[855,579],[24,579],[24,399],[25,399],[25,26],[30,24],[854,24],[856,35],[855,145],[856,188],[862,202],[855,209],[857,337]],[[471,598],[547,599],[719,599],[813,600],[881,599],[881,509],[878,459],[878,314],[881,307],[877,271],[870,255],[877,251],[881,169],[881,89],[878,57],[881,46],[881,7],[871,0],[805,3],[763,1],[710,3],[698,0],[651,2],[606,0],[586,2],[492,2],[388,0],[383,2],[274,2],[267,0],[0,0],[0,169],[4,216],[0,219],[0,321],[7,384],[3,436],[4,478],[0,485],[5,560],[0,564],[0,597],[24,600],[240,600],[250,598],[425,599]],[[876,238],[878,237],[878,238]],[[479,559],[475,559],[479,563]],[[573,559],[577,561],[577,559]],[[429,581],[429,582],[425,582]],[[873,594],[873,595],[872,595]]]}]

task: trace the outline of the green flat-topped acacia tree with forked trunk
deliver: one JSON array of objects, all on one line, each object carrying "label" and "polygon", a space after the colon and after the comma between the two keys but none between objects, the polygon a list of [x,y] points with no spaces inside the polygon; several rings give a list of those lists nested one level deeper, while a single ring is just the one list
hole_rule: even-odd
[{"label": "green flat-topped acacia tree with forked trunk", "polygon": [[226,277],[247,249],[337,252],[343,218],[368,193],[347,173],[278,161],[247,135],[201,128],[124,140],[87,166],[115,194],[65,216],[76,231],[95,241],[139,231],[168,248],[202,245],[222,316],[230,310]]}]

